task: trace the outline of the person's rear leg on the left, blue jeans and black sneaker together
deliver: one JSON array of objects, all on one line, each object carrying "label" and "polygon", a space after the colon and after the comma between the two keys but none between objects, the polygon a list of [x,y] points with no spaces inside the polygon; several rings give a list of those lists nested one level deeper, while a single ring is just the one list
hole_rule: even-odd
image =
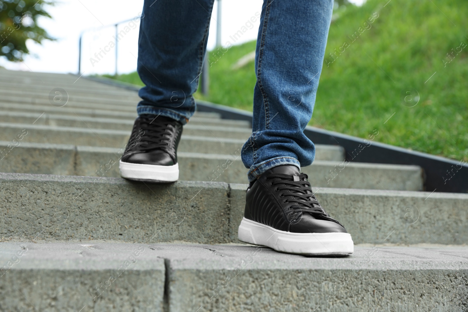
[{"label": "person's rear leg on the left, blue jeans and black sneaker together", "polygon": [[179,178],[177,145],[195,112],[192,94],[205,56],[214,0],[145,0],[138,73],[145,83],[132,135],[119,162],[131,180]]}]

